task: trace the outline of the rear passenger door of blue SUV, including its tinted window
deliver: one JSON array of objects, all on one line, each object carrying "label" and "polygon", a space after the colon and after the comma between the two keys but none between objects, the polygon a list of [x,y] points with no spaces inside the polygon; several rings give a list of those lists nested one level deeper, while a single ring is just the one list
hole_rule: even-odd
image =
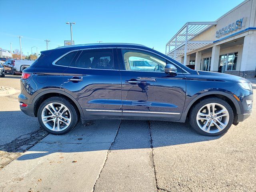
[{"label": "rear passenger door of blue SUV, including its tinted window", "polygon": [[79,50],[64,71],[65,91],[86,118],[121,118],[121,78],[116,48]]}]

